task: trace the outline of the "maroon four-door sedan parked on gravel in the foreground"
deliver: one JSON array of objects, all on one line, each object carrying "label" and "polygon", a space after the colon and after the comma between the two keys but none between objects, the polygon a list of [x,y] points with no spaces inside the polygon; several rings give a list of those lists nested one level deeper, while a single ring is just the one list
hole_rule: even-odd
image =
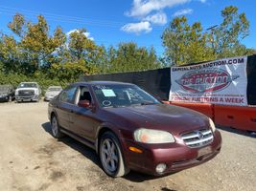
[{"label": "maroon four-door sedan parked on gravel in the foreground", "polygon": [[213,159],[221,134],[209,117],[164,104],[133,84],[80,82],[49,103],[55,138],[76,138],[99,154],[105,173],[155,176]]}]

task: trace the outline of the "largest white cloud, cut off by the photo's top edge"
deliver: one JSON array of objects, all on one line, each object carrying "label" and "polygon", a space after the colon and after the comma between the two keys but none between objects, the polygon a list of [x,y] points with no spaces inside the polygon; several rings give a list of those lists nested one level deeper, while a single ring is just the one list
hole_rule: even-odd
[{"label": "largest white cloud, cut off by the photo's top edge", "polygon": [[151,11],[161,11],[177,5],[188,3],[191,0],[133,0],[132,8],[127,12],[128,16],[144,17]]}]

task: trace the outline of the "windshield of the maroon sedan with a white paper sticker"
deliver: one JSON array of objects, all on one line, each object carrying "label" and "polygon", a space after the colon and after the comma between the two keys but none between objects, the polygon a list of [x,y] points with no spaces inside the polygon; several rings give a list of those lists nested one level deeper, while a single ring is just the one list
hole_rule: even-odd
[{"label": "windshield of the maroon sedan with a white paper sticker", "polygon": [[94,93],[101,107],[126,107],[160,103],[135,85],[94,85]]}]

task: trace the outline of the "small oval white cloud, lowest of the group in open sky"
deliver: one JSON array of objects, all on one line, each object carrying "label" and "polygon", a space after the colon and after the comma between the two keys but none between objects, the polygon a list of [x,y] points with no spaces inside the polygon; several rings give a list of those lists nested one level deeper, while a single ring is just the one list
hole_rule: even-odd
[{"label": "small oval white cloud, lowest of the group in open sky", "polygon": [[124,32],[133,32],[136,34],[139,34],[141,32],[151,32],[151,23],[148,21],[142,21],[139,23],[128,23],[125,26],[121,28],[122,31]]}]

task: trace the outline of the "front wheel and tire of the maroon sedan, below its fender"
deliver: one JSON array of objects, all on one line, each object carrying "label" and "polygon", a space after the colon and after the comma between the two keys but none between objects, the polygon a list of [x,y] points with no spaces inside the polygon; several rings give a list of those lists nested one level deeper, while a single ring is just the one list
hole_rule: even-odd
[{"label": "front wheel and tire of the maroon sedan, below its fender", "polygon": [[117,178],[128,174],[120,143],[113,133],[105,132],[102,136],[99,154],[102,167],[108,176]]}]

